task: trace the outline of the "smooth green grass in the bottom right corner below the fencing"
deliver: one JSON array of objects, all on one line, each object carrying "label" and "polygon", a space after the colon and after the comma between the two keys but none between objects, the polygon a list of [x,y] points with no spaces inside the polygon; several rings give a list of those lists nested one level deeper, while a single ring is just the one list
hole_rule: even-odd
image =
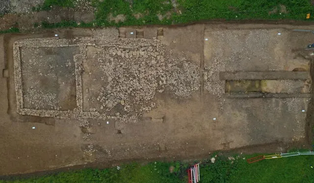
[{"label": "smooth green grass in the bottom right corner below the fencing", "polygon": [[314,156],[262,160],[240,166],[230,177],[233,183],[314,183]]}]

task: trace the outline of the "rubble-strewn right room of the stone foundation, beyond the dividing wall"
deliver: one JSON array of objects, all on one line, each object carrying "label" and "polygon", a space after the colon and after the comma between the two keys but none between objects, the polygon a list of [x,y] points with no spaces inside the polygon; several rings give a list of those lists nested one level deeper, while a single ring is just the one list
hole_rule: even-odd
[{"label": "rubble-strewn right room of the stone foundation, beyond the dividing wall", "polygon": [[150,100],[163,85],[156,41],[135,39],[133,45],[123,41],[117,46],[86,46],[83,113],[135,115],[154,105]]}]

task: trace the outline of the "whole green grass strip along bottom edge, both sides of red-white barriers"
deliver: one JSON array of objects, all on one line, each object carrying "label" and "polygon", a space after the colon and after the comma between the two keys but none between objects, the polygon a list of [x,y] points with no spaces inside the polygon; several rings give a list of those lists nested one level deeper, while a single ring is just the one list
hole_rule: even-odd
[{"label": "whole green grass strip along bottom edge, both sides of red-white barriers", "polygon": [[[257,155],[246,158],[254,156]],[[314,169],[310,167],[314,165],[314,156],[262,160],[252,164],[242,158],[235,156],[235,160],[228,160],[218,156],[215,163],[203,160],[200,164],[202,183],[314,183]],[[175,167],[173,173],[169,172],[170,166]],[[120,170],[116,167],[82,169],[2,183],[186,183],[187,167],[188,164],[179,161],[131,163],[122,165]]]}]

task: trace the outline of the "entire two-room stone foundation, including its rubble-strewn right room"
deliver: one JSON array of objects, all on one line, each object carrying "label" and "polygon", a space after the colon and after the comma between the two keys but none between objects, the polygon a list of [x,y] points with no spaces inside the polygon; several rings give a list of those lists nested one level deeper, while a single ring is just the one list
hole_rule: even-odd
[{"label": "entire two-room stone foundation, including its rubble-strewn right room", "polygon": [[[17,113],[58,118],[104,118],[107,114],[131,111],[133,100],[137,100],[134,108],[143,110],[140,108],[143,96],[135,96],[145,91],[139,88],[135,75],[143,72],[144,77],[145,73],[155,73],[149,66],[158,65],[156,60],[161,57],[155,50],[156,40],[143,43],[137,39],[138,44],[132,45],[134,47],[121,40],[115,46],[100,46],[93,41],[86,37],[15,42]],[[147,59],[149,66],[139,67]],[[155,76],[151,79],[156,80]],[[145,87],[152,82],[142,79],[141,83]],[[155,91],[154,87],[152,90]]]}]

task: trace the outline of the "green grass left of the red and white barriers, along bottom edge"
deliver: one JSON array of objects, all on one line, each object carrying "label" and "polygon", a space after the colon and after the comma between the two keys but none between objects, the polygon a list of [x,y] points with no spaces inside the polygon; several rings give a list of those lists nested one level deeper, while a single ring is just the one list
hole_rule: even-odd
[{"label": "green grass left of the red and white barriers, along bottom edge", "polygon": [[[169,172],[169,166],[175,166],[175,173]],[[12,183],[181,183],[183,176],[175,162],[151,162],[146,165],[131,163],[103,170],[83,169],[64,172],[39,178],[7,181]],[[184,168],[182,168],[184,170]],[[185,175],[185,172],[184,172]],[[3,182],[6,183],[6,182]]]}]

